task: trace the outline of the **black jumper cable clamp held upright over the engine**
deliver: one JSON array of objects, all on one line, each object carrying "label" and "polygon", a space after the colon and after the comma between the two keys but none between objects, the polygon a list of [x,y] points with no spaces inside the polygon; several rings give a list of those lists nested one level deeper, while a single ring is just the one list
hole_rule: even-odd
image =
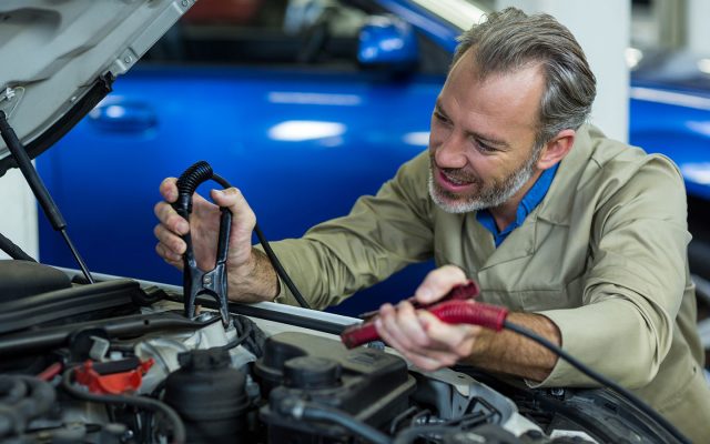
[{"label": "black jumper cable clamp held upright over the engine", "polygon": [[[187,222],[190,222],[190,213],[192,213],[192,195],[201,183],[214,179],[214,176],[212,167],[207,162],[200,161],[185,170],[178,179],[179,195],[178,201],[173,203],[173,208]],[[232,212],[226,208],[221,208],[220,211],[220,233],[214,269],[210,271],[200,270],[190,233],[182,236],[186,244],[185,253],[183,254],[183,292],[186,317],[192,319],[195,316],[195,300],[197,296],[209,295],[217,302],[222,324],[227,327],[230,312],[227,306],[226,256],[230,246]]]}]

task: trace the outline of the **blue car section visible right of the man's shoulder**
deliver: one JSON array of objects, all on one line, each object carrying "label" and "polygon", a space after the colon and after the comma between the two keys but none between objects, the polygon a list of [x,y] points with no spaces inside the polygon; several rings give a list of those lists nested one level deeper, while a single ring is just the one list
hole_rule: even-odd
[{"label": "blue car section visible right of the man's shoulder", "polygon": [[[643,51],[631,71],[629,139],[680,168],[688,192],[688,253],[698,294],[710,303],[710,57]],[[659,202],[659,204],[663,204]],[[708,329],[710,333],[710,329]]]}]

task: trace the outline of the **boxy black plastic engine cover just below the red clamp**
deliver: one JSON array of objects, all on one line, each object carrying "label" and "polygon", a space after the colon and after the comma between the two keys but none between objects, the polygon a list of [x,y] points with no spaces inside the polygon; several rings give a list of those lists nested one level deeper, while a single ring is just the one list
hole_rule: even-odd
[{"label": "boxy black plastic engine cover just below the red clamp", "polygon": [[270,426],[270,442],[287,436],[290,443],[306,443],[311,442],[307,436],[335,438],[345,433],[339,426],[281,415],[278,405],[284,400],[336,408],[382,427],[407,408],[416,387],[398,356],[365,347],[347,350],[339,341],[305,333],[271,336],[254,370],[262,379],[262,390],[271,390],[270,403],[260,412]]}]

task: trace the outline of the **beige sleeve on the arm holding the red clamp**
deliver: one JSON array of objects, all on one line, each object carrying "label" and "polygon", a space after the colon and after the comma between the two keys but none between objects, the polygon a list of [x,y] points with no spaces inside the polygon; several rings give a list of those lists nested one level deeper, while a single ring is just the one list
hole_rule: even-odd
[{"label": "beige sleeve on the arm holding the red clamp", "polygon": [[[559,327],[562,350],[623,386],[640,387],[670,350],[686,289],[682,176],[670,161],[652,157],[598,205],[584,305],[539,313]],[[545,381],[529,384],[597,385],[562,359]]]}]

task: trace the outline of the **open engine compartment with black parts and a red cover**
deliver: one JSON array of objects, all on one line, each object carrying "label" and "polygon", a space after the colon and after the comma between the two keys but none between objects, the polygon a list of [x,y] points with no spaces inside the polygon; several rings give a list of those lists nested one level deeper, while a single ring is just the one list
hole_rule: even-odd
[{"label": "open engine compartment with black parts and a red cover", "polygon": [[672,442],[605,391],[422,372],[383,343],[345,349],[356,320],[297,307],[231,304],[225,329],[210,301],[184,317],[176,290],[113,280],[3,303],[0,442]]}]

